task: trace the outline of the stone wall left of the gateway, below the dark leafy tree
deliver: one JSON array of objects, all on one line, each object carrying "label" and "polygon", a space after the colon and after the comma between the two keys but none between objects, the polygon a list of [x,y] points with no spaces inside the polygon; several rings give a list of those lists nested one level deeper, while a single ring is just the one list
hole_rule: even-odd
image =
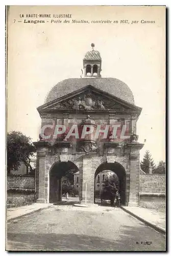
[{"label": "stone wall left of the gateway, below the dark leafy tree", "polygon": [[32,189],[35,190],[35,177],[33,176],[7,176],[7,190],[9,189]]}]

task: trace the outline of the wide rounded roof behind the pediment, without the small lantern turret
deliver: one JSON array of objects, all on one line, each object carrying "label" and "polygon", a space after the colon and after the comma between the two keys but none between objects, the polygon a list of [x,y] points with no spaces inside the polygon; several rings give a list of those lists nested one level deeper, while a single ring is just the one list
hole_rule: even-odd
[{"label": "wide rounded roof behind the pediment, without the small lantern turret", "polygon": [[68,93],[82,89],[85,86],[93,86],[117,98],[134,104],[134,96],[127,84],[116,78],[69,78],[57,83],[47,94],[45,102],[58,99]]}]

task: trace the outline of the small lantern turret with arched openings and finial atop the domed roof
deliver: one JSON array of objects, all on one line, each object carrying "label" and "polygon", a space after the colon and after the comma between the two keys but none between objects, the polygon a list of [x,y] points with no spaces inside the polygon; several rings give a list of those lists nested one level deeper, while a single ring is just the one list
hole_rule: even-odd
[{"label": "small lantern turret with arched openings and finial atop the domed roof", "polygon": [[92,50],[83,59],[84,77],[101,77],[102,58],[100,52],[94,50],[94,46],[92,43]]}]

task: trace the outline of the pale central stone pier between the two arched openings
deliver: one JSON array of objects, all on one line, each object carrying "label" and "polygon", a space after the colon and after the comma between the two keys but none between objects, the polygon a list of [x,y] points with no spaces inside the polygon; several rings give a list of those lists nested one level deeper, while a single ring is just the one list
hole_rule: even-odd
[{"label": "pale central stone pier between the two arched openings", "polygon": [[93,204],[94,177],[91,157],[83,157],[82,201],[81,204]]}]

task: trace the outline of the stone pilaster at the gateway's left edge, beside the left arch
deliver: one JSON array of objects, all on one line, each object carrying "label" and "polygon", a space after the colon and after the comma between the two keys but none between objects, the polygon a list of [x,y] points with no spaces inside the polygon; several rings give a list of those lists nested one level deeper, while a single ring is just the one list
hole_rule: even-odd
[{"label": "stone pilaster at the gateway's left edge, beside the left arch", "polygon": [[45,152],[39,152],[39,193],[37,203],[45,203]]}]

